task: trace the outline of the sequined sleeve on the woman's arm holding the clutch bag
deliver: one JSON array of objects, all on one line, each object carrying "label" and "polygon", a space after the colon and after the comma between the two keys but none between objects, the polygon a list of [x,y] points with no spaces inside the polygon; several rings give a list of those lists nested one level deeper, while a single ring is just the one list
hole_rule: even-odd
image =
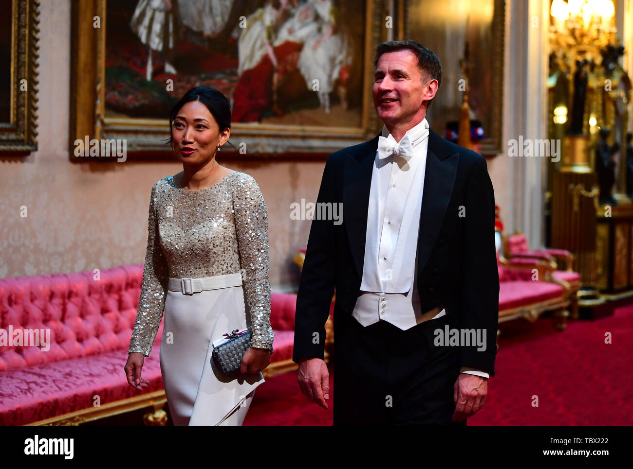
[{"label": "sequined sleeve on the woman's arm holding the clutch bag", "polygon": [[251,347],[271,348],[274,334],[270,326],[268,210],[253,176],[245,174],[234,190],[235,233],[251,312]]}]

